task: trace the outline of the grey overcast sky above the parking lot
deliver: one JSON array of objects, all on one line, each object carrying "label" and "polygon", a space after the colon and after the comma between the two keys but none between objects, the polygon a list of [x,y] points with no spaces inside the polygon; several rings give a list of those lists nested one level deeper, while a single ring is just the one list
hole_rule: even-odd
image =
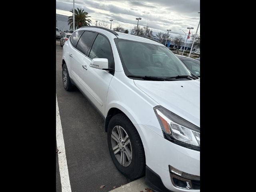
[{"label": "grey overcast sky above the parking lot", "polygon": [[[152,28],[153,34],[170,29],[171,36],[185,35],[187,27],[196,32],[200,20],[200,0],[75,0],[75,8],[82,8],[91,16],[91,25],[98,20],[112,21],[112,28],[121,24],[125,29],[137,26],[136,17],[141,17],[139,26]],[[70,16],[73,0],[56,0],[56,13]],[[200,33],[200,26],[198,29]]]}]

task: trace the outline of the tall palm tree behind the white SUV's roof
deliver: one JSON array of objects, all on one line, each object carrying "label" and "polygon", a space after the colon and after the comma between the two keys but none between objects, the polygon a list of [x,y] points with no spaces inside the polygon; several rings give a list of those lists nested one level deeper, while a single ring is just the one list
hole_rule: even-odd
[{"label": "tall palm tree behind the white SUV's roof", "polygon": [[[70,10],[70,12],[73,13],[73,10]],[[85,12],[82,9],[77,8],[75,9],[75,29],[78,29],[83,26],[90,26],[90,23],[92,21],[90,19],[87,19],[88,17],[88,12]],[[70,25],[70,29],[73,29],[73,16],[68,17],[68,25]]]}]

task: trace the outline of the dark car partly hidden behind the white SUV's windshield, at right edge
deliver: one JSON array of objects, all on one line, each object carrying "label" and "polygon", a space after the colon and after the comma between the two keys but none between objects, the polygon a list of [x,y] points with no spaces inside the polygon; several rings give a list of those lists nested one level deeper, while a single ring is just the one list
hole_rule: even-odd
[{"label": "dark car partly hidden behind the white SUV's windshield, at right edge", "polygon": [[182,55],[176,54],[176,56],[188,67],[188,69],[194,75],[200,77],[200,61]]}]

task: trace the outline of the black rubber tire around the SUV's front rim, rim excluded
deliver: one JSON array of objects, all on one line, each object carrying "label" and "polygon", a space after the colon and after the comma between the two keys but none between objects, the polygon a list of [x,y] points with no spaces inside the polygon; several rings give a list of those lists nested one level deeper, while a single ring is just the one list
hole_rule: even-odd
[{"label": "black rubber tire around the SUV's front rim, rim excluded", "polygon": [[[121,126],[130,138],[132,146],[132,160],[129,166],[122,166],[122,164],[120,164],[116,159],[112,149],[111,134],[113,128],[117,125]],[[108,124],[108,150],[114,165],[124,176],[134,180],[145,174],[146,159],[144,147],[136,128],[125,114],[116,114],[111,118]]]}]

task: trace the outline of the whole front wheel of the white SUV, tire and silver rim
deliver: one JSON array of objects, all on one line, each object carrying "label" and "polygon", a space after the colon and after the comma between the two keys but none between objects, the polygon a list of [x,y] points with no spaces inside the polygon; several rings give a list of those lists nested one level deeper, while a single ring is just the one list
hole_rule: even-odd
[{"label": "whole front wheel of the white SUV, tire and silver rim", "polygon": [[130,179],[145,174],[145,153],[140,135],[125,114],[116,114],[108,124],[108,149],[116,168]]}]

